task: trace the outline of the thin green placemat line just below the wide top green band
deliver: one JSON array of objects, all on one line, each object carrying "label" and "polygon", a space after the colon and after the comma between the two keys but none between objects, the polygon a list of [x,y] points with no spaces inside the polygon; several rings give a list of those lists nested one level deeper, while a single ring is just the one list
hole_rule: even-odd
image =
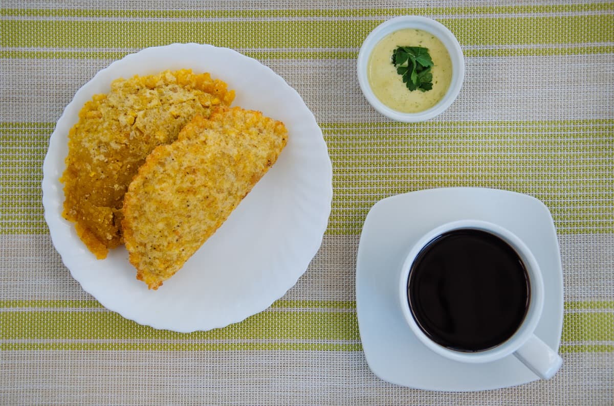
[{"label": "thin green placemat line just below the wide top green band", "polygon": [[[0,51],[4,59],[121,59],[133,52],[105,51]],[[268,59],[356,59],[358,52],[352,51],[250,51],[241,53],[258,60]],[[510,48],[510,49],[465,49],[465,57],[494,56],[565,56],[565,55],[596,55],[614,53],[614,46],[572,46],[562,48]]]}]

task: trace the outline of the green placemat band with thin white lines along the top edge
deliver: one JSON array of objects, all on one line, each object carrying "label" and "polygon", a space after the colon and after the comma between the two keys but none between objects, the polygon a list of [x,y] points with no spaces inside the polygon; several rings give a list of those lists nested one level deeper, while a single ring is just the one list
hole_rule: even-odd
[{"label": "green placemat band with thin white lines along the top edge", "polygon": [[[135,49],[172,42],[245,49],[247,55],[258,58],[355,58],[362,39],[379,23],[395,15],[416,14],[453,16],[438,20],[456,34],[462,45],[486,47],[466,49],[467,56],[577,55],[612,52],[614,38],[608,29],[614,24],[612,9],[611,3],[236,12],[1,9],[0,15],[6,18],[0,20],[0,27],[13,35],[3,36],[0,44],[4,58],[119,58],[130,51],[109,52],[105,48]],[[526,14],[529,15],[525,17]],[[470,17],[461,18],[464,15]],[[493,26],[497,28],[495,32]],[[586,30],[586,27],[594,29]],[[79,35],[91,31],[96,36]],[[47,35],[28,35],[31,32]],[[306,32],[311,35],[305,36]],[[586,45],[587,42],[594,44]],[[265,52],[253,48],[269,49]],[[300,49],[288,51],[287,48]]]}]

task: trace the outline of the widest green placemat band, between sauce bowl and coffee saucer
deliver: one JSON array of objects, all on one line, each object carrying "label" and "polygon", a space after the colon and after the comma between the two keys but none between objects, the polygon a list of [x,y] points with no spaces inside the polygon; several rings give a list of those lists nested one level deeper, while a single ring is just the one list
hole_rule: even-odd
[{"label": "widest green placemat band, between sauce bowl and coffee saucer", "polygon": [[[53,126],[0,126],[2,234],[47,232],[36,183]],[[334,170],[328,234],[360,234],[379,199],[447,186],[535,196],[549,207],[561,234],[614,232],[614,120],[321,126]]]}]

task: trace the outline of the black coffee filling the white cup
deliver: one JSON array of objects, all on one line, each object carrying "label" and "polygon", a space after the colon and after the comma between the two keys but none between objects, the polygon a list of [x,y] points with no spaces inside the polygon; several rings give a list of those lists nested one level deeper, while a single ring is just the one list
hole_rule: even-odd
[{"label": "black coffee filling the white cup", "polygon": [[430,339],[457,351],[483,351],[516,332],[529,305],[523,261],[489,232],[461,229],[422,248],[410,270],[408,300]]}]

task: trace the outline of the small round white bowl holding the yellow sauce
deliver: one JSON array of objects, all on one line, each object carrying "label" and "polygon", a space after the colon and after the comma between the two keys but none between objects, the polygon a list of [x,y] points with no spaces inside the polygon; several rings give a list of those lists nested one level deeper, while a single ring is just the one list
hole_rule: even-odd
[{"label": "small round white bowl holding the yellow sauce", "polygon": [[[375,96],[373,90],[371,90],[367,78],[369,56],[371,56],[371,52],[375,45],[388,34],[405,28],[422,29],[436,36],[443,42],[443,45],[446,46],[450,54],[450,59],[452,60],[452,80],[448,92],[437,104],[433,105],[433,107],[417,113],[399,112],[383,104],[383,102],[379,101],[377,96]],[[420,17],[418,15],[404,15],[402,17],[391,18],[391,20],[387,20],[371,31],[362,43],[362,47],[360,47],[357,69],[360,89],[362,89],[362,93],[365,94],[367,101],[378,110],[378,112],[388,118],[392,118],[392,120],[403,121],[405,123],[416,123],[418,121],[429,120],[429,118],[443,113],[454,102],[461,91],[462,82],[465,77],[465,59],[462,55],[461,45],[448,28],[430,18]]]}]

